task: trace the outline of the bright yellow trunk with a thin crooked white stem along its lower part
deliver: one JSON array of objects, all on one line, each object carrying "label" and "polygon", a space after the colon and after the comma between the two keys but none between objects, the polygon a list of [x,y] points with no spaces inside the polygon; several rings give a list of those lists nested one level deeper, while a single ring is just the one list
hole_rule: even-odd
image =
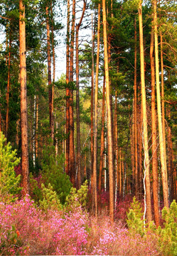
[{"label": "bright yellow trunk with a thin crooked white stem along its lower part", "polygon": [[140,43],[140,65],[141,65],[141,100],[143,111],[143,139],[144,139],[144,171],[146,172],[146,205],[147,205],[147,220],[152,220],[151,213],[151,186],[149,172],[149,146],[148,146],[148,129],[147,129],[147,113],[146,113],[146,89],[144,76],[144,45],[143,45],[143,21],[142,21],[142,6],[139,0],[139,43]]}]

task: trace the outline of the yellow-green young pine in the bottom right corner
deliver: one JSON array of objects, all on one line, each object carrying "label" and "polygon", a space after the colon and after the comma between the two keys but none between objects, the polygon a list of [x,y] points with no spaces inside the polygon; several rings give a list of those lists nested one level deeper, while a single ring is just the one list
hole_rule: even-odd
[{"label": "yellow-green young pine in the bottom right corner", "polygon": [[170,209],[162,210],[162,218],[165,220],[164,228],[158,228],[159,246],[163,255],[177,255],[177,204],[173,200]]}]

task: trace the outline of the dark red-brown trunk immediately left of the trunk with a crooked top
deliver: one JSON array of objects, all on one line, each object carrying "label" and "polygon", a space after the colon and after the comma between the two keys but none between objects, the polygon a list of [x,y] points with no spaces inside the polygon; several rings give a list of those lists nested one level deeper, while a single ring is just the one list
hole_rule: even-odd
[{"label": "dark red-brown trunk immediately left of the trunk with a crooked top", "polygon": [[[75,41],[75,0],[73,0],[72,28],[70,36],[70,83],[73,83],[73,58]],[[70,180],[75,186],[75,144],[73,117],[73,88],[70,88]]]}]

